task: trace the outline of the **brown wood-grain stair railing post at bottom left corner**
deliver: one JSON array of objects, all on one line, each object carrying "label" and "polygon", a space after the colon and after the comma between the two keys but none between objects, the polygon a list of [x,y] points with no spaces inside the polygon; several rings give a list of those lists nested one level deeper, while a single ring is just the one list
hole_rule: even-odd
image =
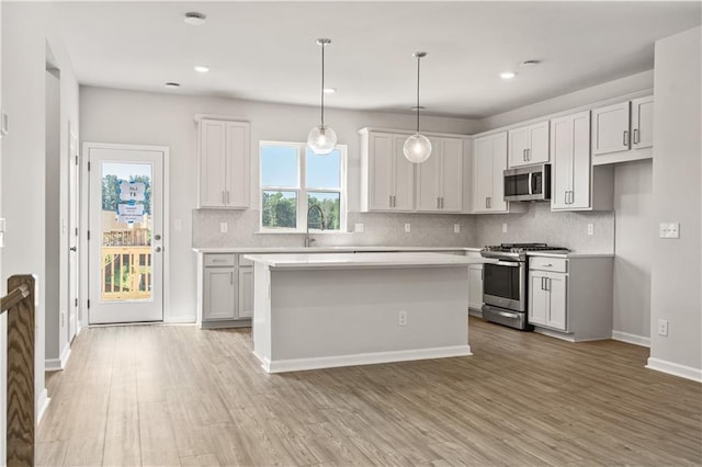
[{"label": "brown wood-grain stair railing post at bottom left corner", "polygon": [[8,278],[7,465],[34,465],[34,293],[33,275]]}]

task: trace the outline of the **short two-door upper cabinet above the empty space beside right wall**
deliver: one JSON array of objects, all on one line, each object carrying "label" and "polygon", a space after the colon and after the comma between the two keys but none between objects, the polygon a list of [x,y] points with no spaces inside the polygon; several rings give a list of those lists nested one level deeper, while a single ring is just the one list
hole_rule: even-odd
[{"label": "short two-door upper cabinet above the empty space beside right wall", "polygon": [[592,110],[592,164],[653,157],[653,95]]}]

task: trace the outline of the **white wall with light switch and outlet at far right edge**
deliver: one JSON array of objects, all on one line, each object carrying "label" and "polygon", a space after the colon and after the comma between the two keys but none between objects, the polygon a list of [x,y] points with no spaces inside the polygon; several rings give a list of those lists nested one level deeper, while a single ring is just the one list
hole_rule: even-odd
[{"label": "white wall with light switch and outlet at far right edge", "polygon": [[702,29],[656,42],[654,219],[679,221],[680,239],[654,241],[648,366],[702,381]]}]

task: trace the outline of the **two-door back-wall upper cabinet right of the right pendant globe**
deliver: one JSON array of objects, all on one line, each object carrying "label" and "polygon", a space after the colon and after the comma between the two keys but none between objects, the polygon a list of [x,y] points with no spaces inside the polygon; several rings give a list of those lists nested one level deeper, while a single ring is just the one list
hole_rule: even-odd
[{"label": "two-door back-wall upper cabinet right of the right pendant globe", "polygon": [[463,209],[463,139],[430,138],[431,157],[417,164],[417,210]]}]

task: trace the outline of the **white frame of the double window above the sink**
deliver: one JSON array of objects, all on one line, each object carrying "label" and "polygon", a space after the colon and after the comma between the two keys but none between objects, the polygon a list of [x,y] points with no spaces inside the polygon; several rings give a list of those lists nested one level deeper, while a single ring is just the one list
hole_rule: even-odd
[{"label": "white frame of the double window above the sink", "polygon": [[[264,146],[283,146],[294,147],[297,149],[297,186],[272,186],[263,184],[263,170],[261,168],[261,152]],[[259,141],[259,231],[262,234],[306,234],[307,232],[307,194],[308,193],[339,193],[339,230],[321,230],[318,228],[309,228],[310,232],[315,234],[342,234],[347,231],[347,146],[337,145],[335,150],[339,151],[339,187],[317,187],[307,186],[307,144],[306,143],[292,143],[292,141],[272,141],[260,140]],[[295,204],[296,209],[296,225],[295,228],[290,227],[276,227],[270,228],[263,226],[263,192],[280,191],[280,192],[295,192],[297,202]]]}]

